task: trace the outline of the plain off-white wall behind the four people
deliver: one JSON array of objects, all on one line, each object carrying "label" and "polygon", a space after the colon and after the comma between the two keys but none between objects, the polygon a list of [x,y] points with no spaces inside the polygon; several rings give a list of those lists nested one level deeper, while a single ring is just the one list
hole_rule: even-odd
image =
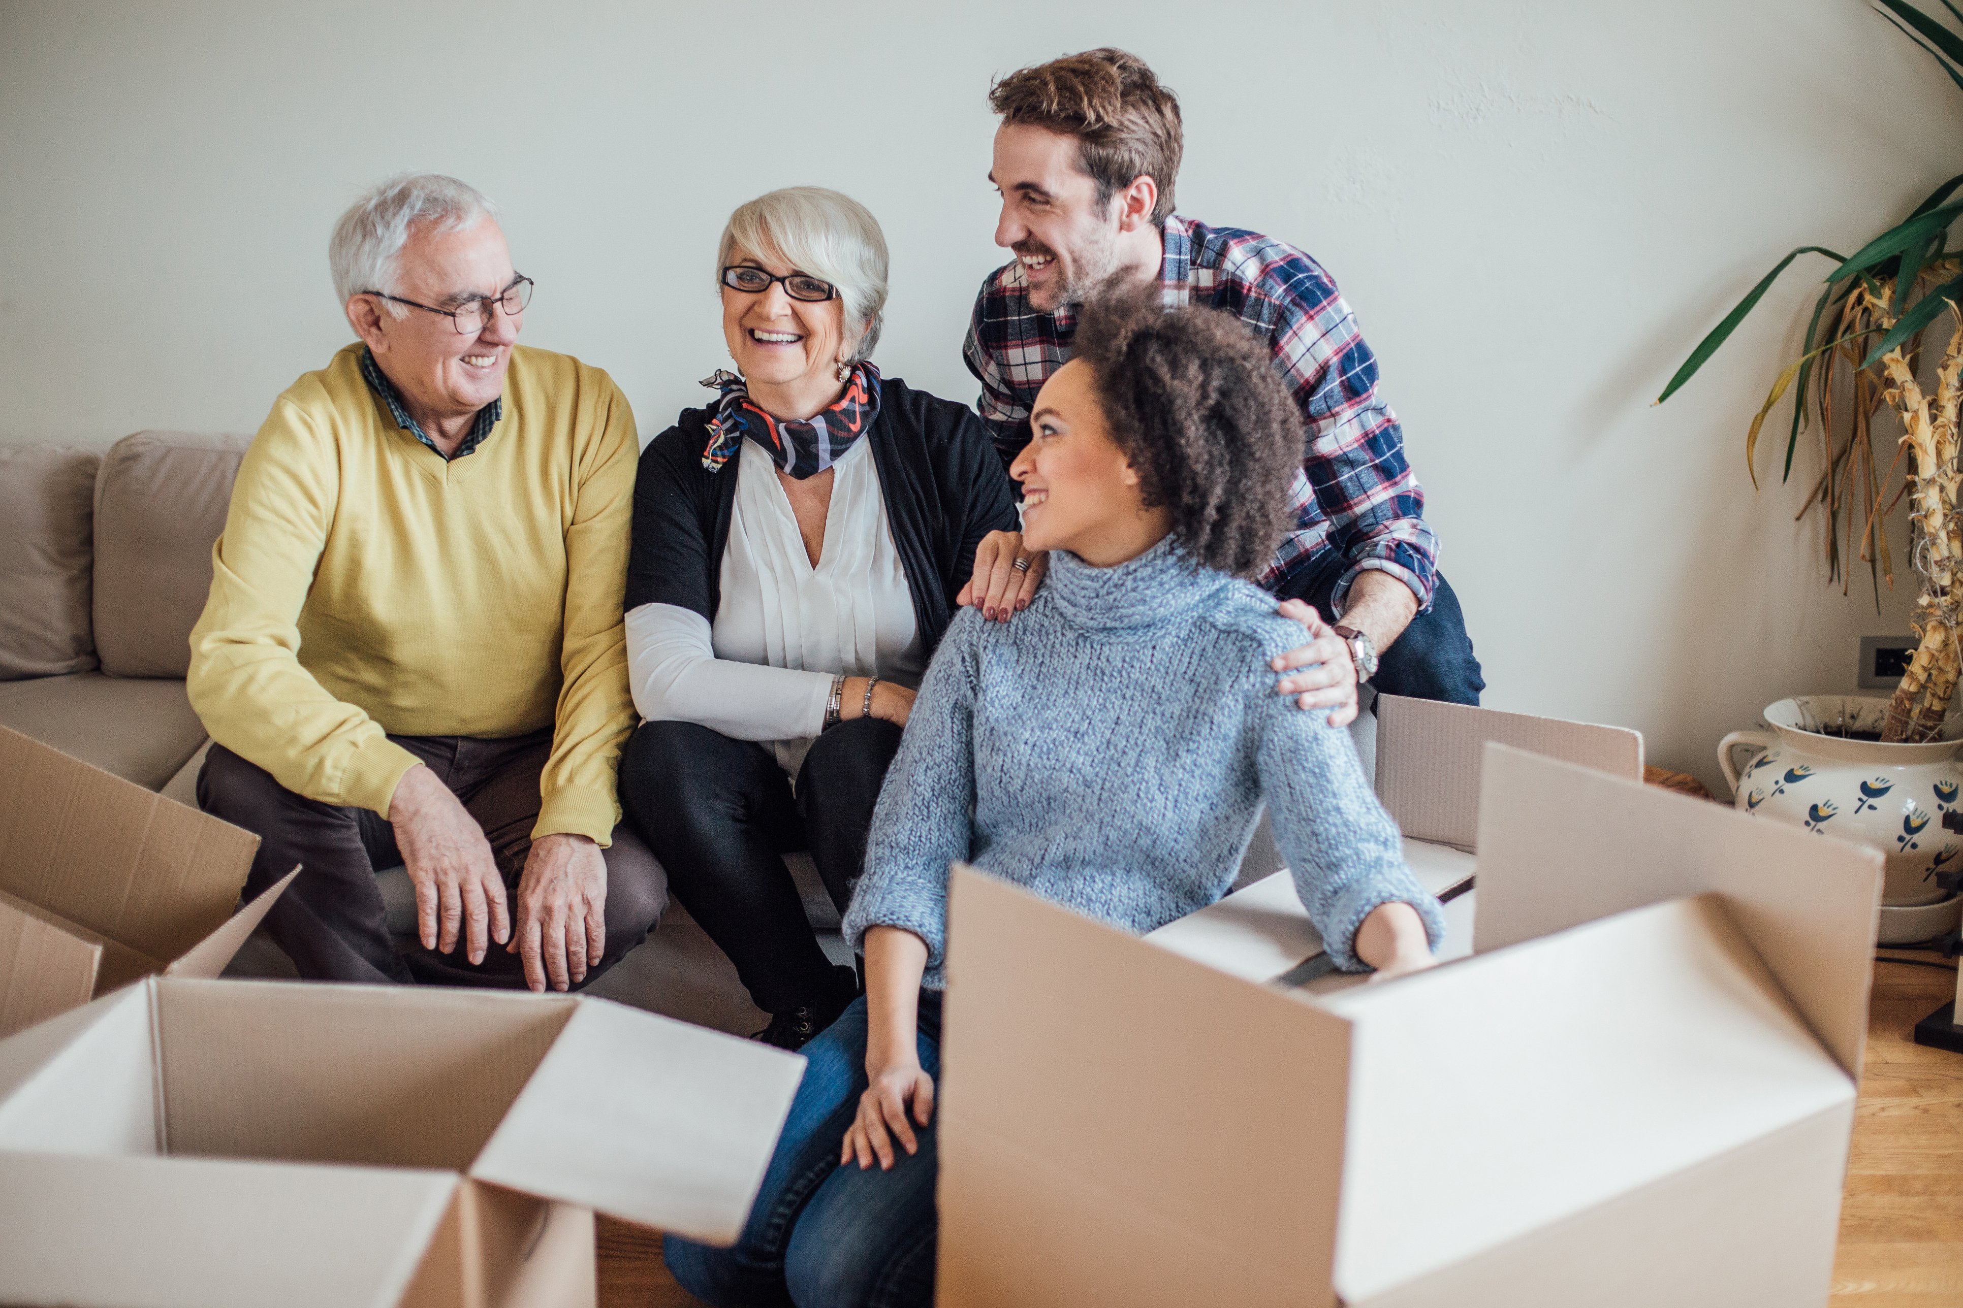
[{"label": "plain off-white wall behind the four people", "polygon": [[398,169],[504,206],[526,339],[607,367],[644,437],[724,359],[724,216],[793,182],[885,224],[887,373],[972,400],[989,76],[1103,43],[1182,96],[1180,210],[1356,306],[1488,704],[1716,779],[1722,731],[1906,629],[1906,577],[1877,616],[1792,526],[1818,455],[1745,478],[1804,278],[1649,408],[1780,253],[1955,171],[1963,96],[1861,0],[0,4],[0,439],[253,429],[349,337],[328,227]]}]

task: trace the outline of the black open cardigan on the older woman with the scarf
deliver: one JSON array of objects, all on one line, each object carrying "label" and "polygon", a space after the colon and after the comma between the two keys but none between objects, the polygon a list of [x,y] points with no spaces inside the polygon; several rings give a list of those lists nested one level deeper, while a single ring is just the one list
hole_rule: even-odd
[{"label": "black open cardigan on the older woman with the scarf", "polygon": [[[640,455],[628,612],[673,604],[716,620],[742,459],[730,457],[720,473],[703,469],[709,414],[683,410]],[[989,531],[1017,529],[1015,494],[974,410],[899,378],[881,380],[879,416],[862,439],[872,441],[913,620],[930,655],[954,620],[954,596],[974,573],[976,545]]]}]

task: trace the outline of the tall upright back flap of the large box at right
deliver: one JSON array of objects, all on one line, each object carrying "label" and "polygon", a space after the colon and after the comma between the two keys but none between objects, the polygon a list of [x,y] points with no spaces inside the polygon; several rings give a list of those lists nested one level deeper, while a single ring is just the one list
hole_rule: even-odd
[{"label": "tall upright back flap of the large box at right", "polygon": [[1881,851],[1494,745],[1480,806],[1480,953],[1716,890],[1861,1077]]}]

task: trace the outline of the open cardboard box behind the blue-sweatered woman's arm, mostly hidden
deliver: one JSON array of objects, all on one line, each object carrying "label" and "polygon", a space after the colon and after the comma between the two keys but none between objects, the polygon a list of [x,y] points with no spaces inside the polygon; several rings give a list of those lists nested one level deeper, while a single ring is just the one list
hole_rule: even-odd
[{"label": "open cardboard box behind the blue-sweatered woman's arm, mostly hidden", "polygon": [[[1445,900],[1443,959],[1472,953],[1480,765],[1502,743],[1643,780],[1643,735],[1563,718],[1376,696],[1376,796],[1404,833],[1404,861]],[[1146,939],[1247,981],[1327,971],[1323,939],[1286,871],[1170,922]]]}]

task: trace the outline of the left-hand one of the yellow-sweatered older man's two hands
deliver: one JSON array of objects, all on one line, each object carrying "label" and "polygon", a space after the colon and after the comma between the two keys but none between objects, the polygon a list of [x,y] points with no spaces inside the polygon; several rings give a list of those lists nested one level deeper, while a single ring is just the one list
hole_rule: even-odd
[{"label": "left-hand one of the yellow-sweatered older man's two hands", "polygon": [[[418,763],[389,800],[395,847],[416,882],[416,931],[424,949],[450,953],[461,928],[465,957],[483,963],[489,939],[510,939],[504,879],[491,841],[436,773]],[[489,939],[487,939],[489,937]]]}]

